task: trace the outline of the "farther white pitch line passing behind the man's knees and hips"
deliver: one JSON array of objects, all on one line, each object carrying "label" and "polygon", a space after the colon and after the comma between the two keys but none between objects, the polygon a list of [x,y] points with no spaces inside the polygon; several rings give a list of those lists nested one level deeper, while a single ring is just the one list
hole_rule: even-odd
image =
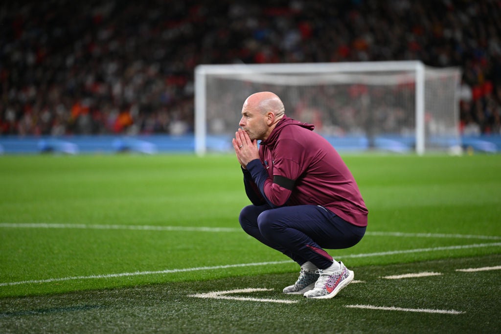
[{"label": "farther white pitch line passing behind the man's knees and hips", "polygon": [[[155,226],[155,225],[118,225],[118,224],[59,224],[59,223],[0,223],[0,228],[74,228],[99,230],[143,230],[143,231],[188,231],[188,232],[241,232],[241,228],[234,227],[205,227],[205,226]],[[367,231],[369,236],[394,236],[415,238],[456,238],[456,239],[485,239],[501,240],[495,235],[471,234],[443,234],[443,233],[402,233]]]}]

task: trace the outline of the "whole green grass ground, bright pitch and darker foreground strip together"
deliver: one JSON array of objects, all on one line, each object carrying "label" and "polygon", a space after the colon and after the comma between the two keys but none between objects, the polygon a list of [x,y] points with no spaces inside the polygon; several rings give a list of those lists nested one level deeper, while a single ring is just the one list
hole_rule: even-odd
[{"label": "whole green grass ground, bright pitch and darker foreground strip together", "polygon": [[356,281],[309,300],[240,230],[232,155],[0,157],[0,332],[500,332],[501,155],[343,158]]}]

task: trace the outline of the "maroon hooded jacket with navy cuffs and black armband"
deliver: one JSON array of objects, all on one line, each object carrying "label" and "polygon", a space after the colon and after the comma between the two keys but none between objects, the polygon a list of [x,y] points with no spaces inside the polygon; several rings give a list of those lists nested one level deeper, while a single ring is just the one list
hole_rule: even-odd
[{"label": "maroon hooded jacket with navy cuffs and black armband", "polygon": [[247,196],[254,204],[266,200],[272,207],[321,205],[354,225],[367,226],[368,210],[353,175],[314,128],[287,116],[280,120],[260,144],[261,162],[250,161],[244,170]]}]

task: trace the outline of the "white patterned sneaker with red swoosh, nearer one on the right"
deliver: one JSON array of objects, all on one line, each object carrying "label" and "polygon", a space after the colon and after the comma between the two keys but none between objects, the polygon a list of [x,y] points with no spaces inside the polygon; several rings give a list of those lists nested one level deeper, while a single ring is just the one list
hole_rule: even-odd
[{"label": "white patterned sneaker with red swoosh, nearer one on the right", "polygon": [[320,277],[315,283],[315,288],[305,292],[304,296],[308,298],[332,298],[343,287],[350,284],[354,276],[353,271],[348,270],[343,262],[339,262],[339,264],[341,264],[339,270],[318,269],[317,272]]}]

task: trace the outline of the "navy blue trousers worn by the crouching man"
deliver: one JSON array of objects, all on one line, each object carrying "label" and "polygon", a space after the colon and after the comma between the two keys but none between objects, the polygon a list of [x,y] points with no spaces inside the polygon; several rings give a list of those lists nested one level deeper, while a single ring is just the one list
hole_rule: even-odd
[{"label": "navy blue trousers worn by the crouching man", "polygon": [[350,224],[317,205],[277,209],[271,209],[267,205],[249,207],[240,213],[242,228],[300,265],[311,261],[319,268],[325,269],[332,264],[333,259],[323,247],[349,248],[358,243],[365,233],[365,227]]}]

